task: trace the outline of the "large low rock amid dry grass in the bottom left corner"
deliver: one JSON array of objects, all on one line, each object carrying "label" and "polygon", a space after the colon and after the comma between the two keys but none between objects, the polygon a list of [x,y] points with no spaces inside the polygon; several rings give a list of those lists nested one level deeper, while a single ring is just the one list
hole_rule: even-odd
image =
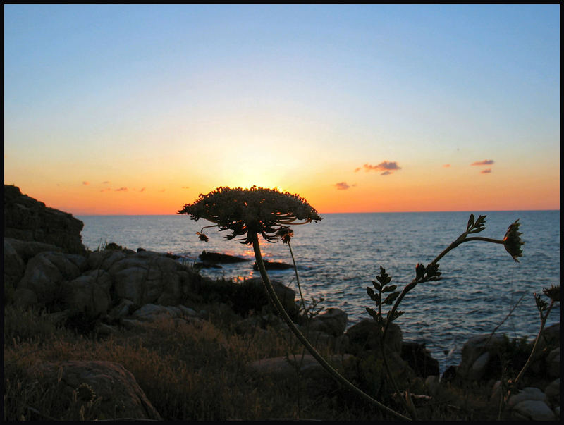
[{"label": "large low rock amid dry grass in the bottom left corner", "polygon": [[121,364],[82,360],[40,363],[31,373],[53,384],[60,381],[58,390],[51,394],[58,399],[56,405],[68,405],[76,391],[78,402],[100,398],[96,419],[162,420],[133,374]]}]

